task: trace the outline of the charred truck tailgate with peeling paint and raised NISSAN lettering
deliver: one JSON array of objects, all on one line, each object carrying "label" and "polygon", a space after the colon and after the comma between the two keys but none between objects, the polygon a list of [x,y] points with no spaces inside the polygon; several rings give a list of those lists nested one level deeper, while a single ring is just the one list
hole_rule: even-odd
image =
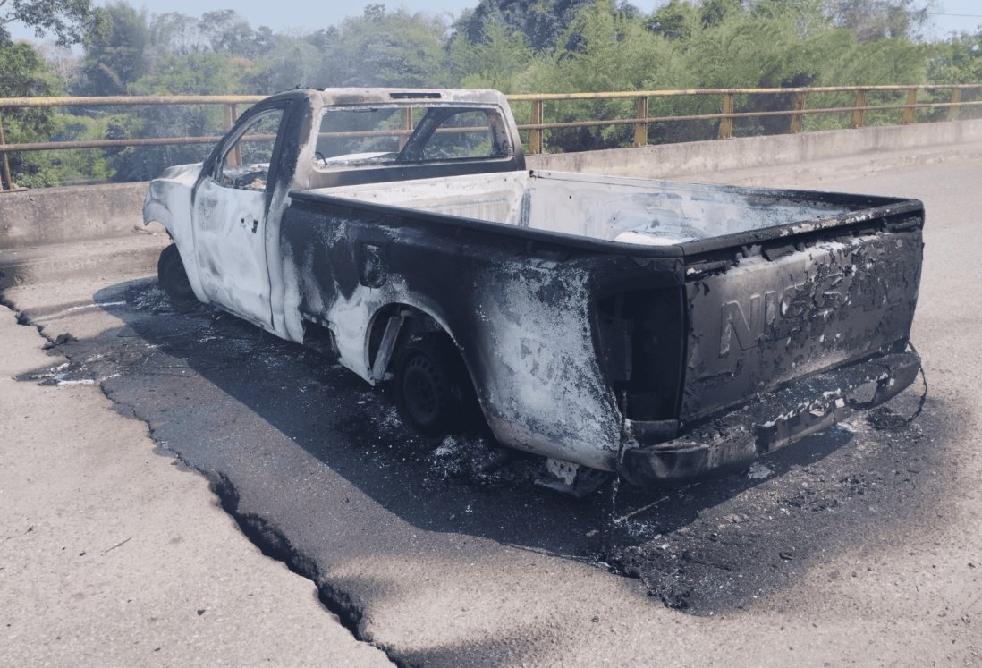
[{"label": "charred truck tailgate with peeling paint and raised NISSAN lettering", "polygon": [[871,356],[900,352],[913,319],[923,208],[718,238],[686,248],[682,424],[758,393]]}]

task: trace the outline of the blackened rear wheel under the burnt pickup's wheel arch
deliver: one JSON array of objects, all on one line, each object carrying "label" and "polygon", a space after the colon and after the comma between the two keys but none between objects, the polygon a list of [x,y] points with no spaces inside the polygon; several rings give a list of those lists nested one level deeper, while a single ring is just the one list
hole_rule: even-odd
[{"label": "blackened rear wheel under the burnt pickup's wheel arch", "polygon": [[472,391],[449,338],[410,341],[396,359],[393,384],[399,415],[419,431],[436,436],[463,426]]}]

